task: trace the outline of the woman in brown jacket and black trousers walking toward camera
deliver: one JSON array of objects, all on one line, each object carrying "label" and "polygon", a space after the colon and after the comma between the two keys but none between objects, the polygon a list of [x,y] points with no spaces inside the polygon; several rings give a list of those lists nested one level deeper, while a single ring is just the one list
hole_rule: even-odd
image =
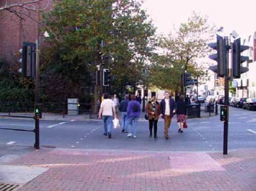
[{"label": "woman in brown jacket and black trousers walking toward camera", "polygon": [[157,122],[160,115],[160,104],[157,98],[153,96],[151,101],[146,104],[146,112],[148,113],[148,122],[150,125],[150,137],[152,137],[152,129],[154,124],[154,138],[157,139]]}]

